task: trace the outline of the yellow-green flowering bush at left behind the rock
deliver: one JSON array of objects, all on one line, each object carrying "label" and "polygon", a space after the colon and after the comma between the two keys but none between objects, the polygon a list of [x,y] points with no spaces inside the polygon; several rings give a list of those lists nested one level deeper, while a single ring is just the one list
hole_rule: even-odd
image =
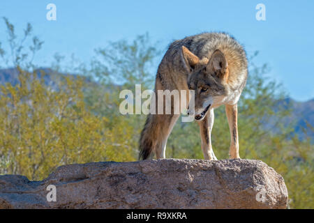
[{"label": "yellow-green flowering bush at left behind the rock", "polygon": [[47,87],[44,72],[17,68],[19,83],[0,89],[0,174],[38,180],[62,164],[134,160],[124,122],[113,126],[87,109],[84,78],[62,76]]}]

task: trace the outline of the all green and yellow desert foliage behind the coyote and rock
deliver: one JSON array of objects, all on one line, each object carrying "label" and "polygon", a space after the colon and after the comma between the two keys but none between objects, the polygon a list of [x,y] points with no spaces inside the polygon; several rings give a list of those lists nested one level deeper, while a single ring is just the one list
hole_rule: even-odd
[{"label": "all green and yellow desert foliage behind the coyote and rock", "polygon": [[[19,84],[0,89],[0,174],[22,174],[33,180],[44,178],[61,164],[97,161],[133,161],[137,158],[138,139],[144,115],[121,115],[119,105],[123,89],[152,88],[160,51],[149,36],[138,36],[97,49],[89,66],[80,64],[80,76],[59,75],[56,84],[38,78],[33,56],[41,43],[34,37],[31,47],[23,46],[31,33],[27,25],[17,41],[14,26],[8,27],[10,54],[1,48],[5,65],[21,67]],[[25,51],[29,49],[30,51]],[[255,53],[254,56],[257,56]],[[289,109],[281,107],[286,97],[280,86],[267,78],[266,65],[255,66],[249,59],[250,72],[239,101],[239,146],[241,158],[263,160],[285,179],[290,208],[314,208],[313,144],[292,137],[290,126],[283,125]],[[61,69],[63,56],[55,55],[54,68]],[[94,82],[91,82],[94,80]],[[230,134],[225,108],[215,110],[212,144],[218,159],[228,157]],[[196,123],[174,126],[167,143],[167,157],[203,158]]]}]

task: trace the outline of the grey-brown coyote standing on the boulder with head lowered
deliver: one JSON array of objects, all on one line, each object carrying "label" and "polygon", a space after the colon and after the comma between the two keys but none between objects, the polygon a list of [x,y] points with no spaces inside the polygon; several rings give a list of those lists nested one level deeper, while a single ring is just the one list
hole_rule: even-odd
[{"label": "grey-brown coyote standing on the boulder with head lowered", "polygon": [[[231,143],[229,157],[240,158],[237,130],[237,102],[248,75],[246,52],[226,33],[202,33],[174,41],[158,66],[155,93],[158,90],[194,90],[194,115],[200,125],[204,159],[217,160],[211,148],[214,109],[225,105]],[[186,95],[180,95],[180,97]],[[156,98],[156,107],[158,106]],[[174,101],[173,104],[179,102]],[[174,105],[171,105],[172,109]],[[179,105],[182,107],[182,105]],[[183,109],[183,108],[181,108]],[[155,152],[165,158],[167,138],[179,114],[149,114],[140,135],[140,159]]]}]

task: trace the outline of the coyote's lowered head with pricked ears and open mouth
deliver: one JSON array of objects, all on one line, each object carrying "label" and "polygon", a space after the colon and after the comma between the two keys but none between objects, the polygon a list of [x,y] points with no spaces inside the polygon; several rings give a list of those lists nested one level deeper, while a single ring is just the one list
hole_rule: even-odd
[{"label": "coyote's lowered head with pricked ears and open mouth", "polygon": [[[210,59],[199,59],[188,48],[182,47],[182,60],[188,71],[188,89],[195,92],[195,120],[201,121],[207,111],[225,96],[225,82],[229,75],[227,59],[219,49]],[[188,109],[193,114],[193,108]]]}]

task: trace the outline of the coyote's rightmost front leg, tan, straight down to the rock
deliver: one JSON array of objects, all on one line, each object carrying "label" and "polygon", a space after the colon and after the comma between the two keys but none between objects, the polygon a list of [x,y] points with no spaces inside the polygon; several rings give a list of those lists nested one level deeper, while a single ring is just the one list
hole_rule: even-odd
[{"label": "coyote's rightmost front leg, tan, straight down to the rock", "polygon": [[237,104],[235,105],[225,105],[225,114],[227,115],[229,129],[230,129],[230,151],[229,157],[230,159],[240,158],[239,155],[239,139],[238,139],[238,124],[237,124],[237,115],[238,108]]}]

